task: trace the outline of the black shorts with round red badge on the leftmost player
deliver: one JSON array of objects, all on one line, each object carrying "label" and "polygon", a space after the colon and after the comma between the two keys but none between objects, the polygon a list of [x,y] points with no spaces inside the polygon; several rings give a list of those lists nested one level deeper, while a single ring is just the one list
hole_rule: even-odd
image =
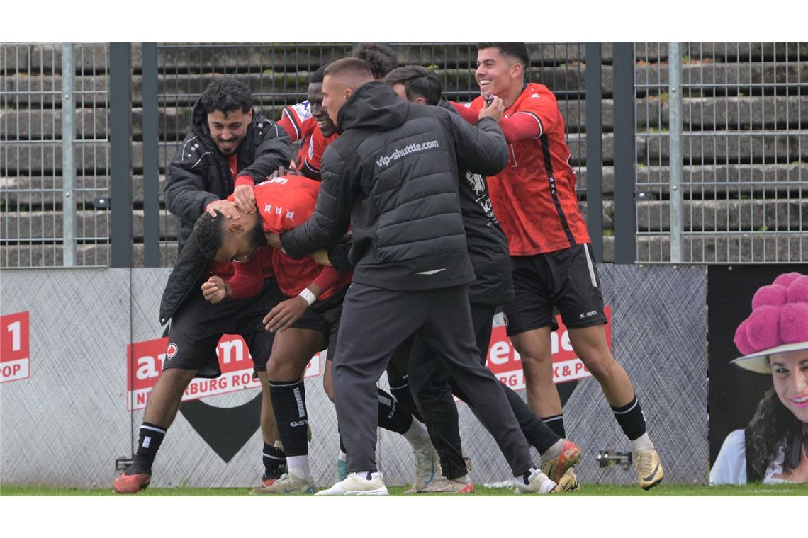
[{"label": "black shorts with round red badge on the leftmost player", "polygon": [[222,335],[241,335],[250,349],[253,375],[267,369],[275,335],[263,327],[263,316],[286,297],[275,278],[267,278],[259,294],[211,304],[201,290],[191,292],[171,318],[163,369],[196,369],[196,377],[219,377],[217,344]]}]

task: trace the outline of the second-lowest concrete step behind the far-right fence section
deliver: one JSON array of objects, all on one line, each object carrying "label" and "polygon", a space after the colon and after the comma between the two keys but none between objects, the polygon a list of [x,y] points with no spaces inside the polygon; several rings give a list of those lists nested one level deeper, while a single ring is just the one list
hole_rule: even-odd
[{"label": "second-lowest concrete step behind the far-right fence section", "polygon": [[[636,207],[638,231],[670,231],[671,202],[638,202]],[[683,218],[684,231],[692,232],[803,231],[808,229],[808,198],[685,200]]]}]

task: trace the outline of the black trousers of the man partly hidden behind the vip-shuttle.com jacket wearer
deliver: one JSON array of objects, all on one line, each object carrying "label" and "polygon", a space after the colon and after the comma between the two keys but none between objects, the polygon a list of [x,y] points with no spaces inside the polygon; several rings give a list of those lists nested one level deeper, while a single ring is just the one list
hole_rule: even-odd
[{"label": "black trousers of the man partly hidden behind the vip-shuttle.com jacket wearer", "polygon": [[[474,337],[479,352],[478,360],[481,365],[485,365],[496,309],[481,304],[472,304],[470,309]],[[424,422],[427,424],[432,444],[435,445],[435,449],[440,455],[440,465],[444,476],[447,478],[463,476],[466,468],[461,453],[457,406],[452,398],[452,392],[457,398],[468,403],[474,415],[480,418],[483,425],[486,426],[478,408],[474,407],[463,387],[459,386],[450,376],[432,348],[418,337],[412,344],[407,375],[410,390],[423,415]],[[519,394],[502,383],[499,386],[529,444],[536,447],[540,453],[544,453],[560,439],[533,414]]]}]

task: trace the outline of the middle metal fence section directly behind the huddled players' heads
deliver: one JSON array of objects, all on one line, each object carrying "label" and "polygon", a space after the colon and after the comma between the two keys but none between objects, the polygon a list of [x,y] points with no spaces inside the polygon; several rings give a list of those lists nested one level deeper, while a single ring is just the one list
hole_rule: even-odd
[{"label": "middle metal fence section directly behind the huddled players' heads", "polygon": [[[473,77],[473,44],[392,43],[399,65],[417,64],[440,75],[447,98],[467,102],[479,94]],[[187,133],[191,106],[217,75],[239,77],[250,85],[256,108],[280,119],[285,106],[304,101],[309,76],[321,65],[350,54],[353,44],[158,44],[154,52],[158,83],[160,155],[160,261],[176,256],[177,222],[165,210],[162,185],[166,167]],[[532,44],[529,77],[553,88],[567,119],[570,150],[579,177],[586,171],[584,98],[585,46]],[[151,96],[144,95],[144,102]],[[135,174],[139,173],[135,170]],[[581,188],[585,187],[585,183]],[[584,209],[586,202],[583,202]]]}]

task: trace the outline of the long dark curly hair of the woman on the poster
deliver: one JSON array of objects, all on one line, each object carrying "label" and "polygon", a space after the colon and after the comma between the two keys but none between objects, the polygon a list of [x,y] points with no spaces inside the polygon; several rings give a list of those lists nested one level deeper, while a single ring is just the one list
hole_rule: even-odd
[{"label": "long dark curly hair of the woman on the poster", "polygon": [[749,463],[755,476],[763,478],[781,446],[800,432],[802,424],[797,417],[783,405],[773,387],[767,390],[747,427],[747,442],[754,448],[754,459]]}]

